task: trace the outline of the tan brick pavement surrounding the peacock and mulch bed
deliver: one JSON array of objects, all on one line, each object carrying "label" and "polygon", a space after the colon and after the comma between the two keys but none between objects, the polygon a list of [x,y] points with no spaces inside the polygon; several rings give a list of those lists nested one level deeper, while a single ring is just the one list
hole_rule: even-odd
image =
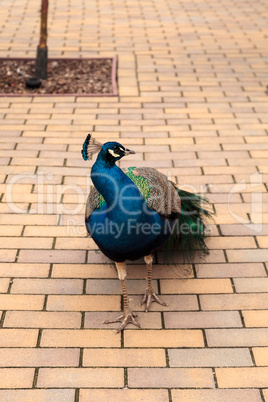
[{"label": "tan brick pavement surrounding the peacock and mulch bed", "polygon": [[[39,2],[0,5],[0,56],[35,56]],[[50,56],[117,54],[119,97],[0,98],[0,400],[268,401],[267,6],[54,0],[49,28]],[[102,324],[119,282],[83,227],[90,131],[217,212],[195,278],[159,258],[168,308],[142,312],[129,267],[143,330],[121,336]]]}]

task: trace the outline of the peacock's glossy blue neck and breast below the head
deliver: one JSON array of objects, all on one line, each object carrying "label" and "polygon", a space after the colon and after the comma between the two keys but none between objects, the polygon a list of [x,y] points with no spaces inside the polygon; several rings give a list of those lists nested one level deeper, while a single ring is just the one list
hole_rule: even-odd
[{"label": "peacock's glossy blue neck and breast below the head", "polygon": [[121,169],[97,162],[91,177],[105,203],[93,211],[86,222],[87,230],[114,261],[151,254],[170,237],[173,224],[148,208],[137,186]]}]

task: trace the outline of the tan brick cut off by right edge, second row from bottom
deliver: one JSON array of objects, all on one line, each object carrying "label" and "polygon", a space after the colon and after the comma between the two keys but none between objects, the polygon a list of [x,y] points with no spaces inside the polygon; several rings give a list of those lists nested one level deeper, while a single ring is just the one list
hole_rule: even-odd
[{"label": "tan brick cut off by right edge, second row from bottom", "polygon": [[268,367],[216,368],[220,388],[258,388],[267,385]]}]

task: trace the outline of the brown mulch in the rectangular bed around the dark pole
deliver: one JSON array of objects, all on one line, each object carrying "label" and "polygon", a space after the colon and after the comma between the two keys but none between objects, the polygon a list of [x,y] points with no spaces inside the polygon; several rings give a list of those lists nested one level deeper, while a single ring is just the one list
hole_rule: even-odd
[{"label": "brown mulch in the rectangular bed around the dark pole", "polygon": [[0,60],[0,94],[111,94],[112,59],[49,60],[48,79],[28,89],[35,60]]}]

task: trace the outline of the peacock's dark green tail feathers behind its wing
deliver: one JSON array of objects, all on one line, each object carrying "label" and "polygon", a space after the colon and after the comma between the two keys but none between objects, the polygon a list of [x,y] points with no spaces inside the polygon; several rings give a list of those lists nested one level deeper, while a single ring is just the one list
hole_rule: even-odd
[{"label": "peacock's dark green tail feathers behind its wing", "polygon": [[179,251],[183,261],[193,261],[196,252],[200,257],[209,254],[205,243],[208,231],[206,220],[211,219],[213,213],[208,209],[210,202],[205,197],[176,188],[181,199],[181,214],[174,226],[173,234],[163,246],[164,258],[170,262],[172,252]]}]

